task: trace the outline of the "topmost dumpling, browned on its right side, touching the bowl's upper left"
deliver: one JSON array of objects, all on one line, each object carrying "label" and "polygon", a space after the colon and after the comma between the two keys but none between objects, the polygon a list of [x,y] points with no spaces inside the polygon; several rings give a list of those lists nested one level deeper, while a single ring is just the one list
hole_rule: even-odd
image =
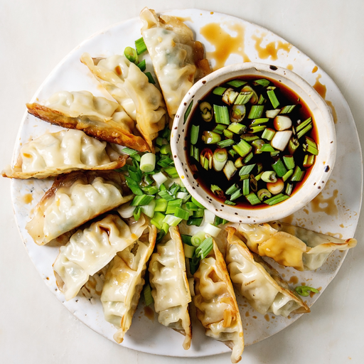
[{"label": "topmost dumpling, browned on its right side, touching the bowl's upper left", "polygon": [[193,32],[175,16],[157,16],[152,9],[140,13],[141,34],[151,56],[156,77],[171,118],[183,97],[197,78],[210,73],[208,60],[203,59],[200,42],[193,40]]}]

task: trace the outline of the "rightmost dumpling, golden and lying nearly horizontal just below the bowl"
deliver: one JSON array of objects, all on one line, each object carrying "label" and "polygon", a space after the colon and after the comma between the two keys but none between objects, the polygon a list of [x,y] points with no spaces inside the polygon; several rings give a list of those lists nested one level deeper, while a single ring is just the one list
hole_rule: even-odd
[{"label": "rightmost dumpling, golden and lying nearly horizontal just below the bowl", "polygon": [[317,269],[334,250],[356,246],[355,239],[341,240],[284,223],[240,224],[237,231],[253,252],[299,271]]}]

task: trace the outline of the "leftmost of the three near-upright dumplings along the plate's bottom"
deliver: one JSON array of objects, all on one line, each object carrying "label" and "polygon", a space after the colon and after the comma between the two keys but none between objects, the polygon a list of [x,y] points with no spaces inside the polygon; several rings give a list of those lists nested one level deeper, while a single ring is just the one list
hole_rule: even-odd
[{"label": "leftmost of the three near-upright dumplings along the plate's bottom", "polygon": [[144,285],[146,262],[156,242],[156,228],[149,226],[149,234],[118,252],[107,269],[101,302],[105,319],[118,328],[114,340],[122,343],[132,324],[141,289]]}]

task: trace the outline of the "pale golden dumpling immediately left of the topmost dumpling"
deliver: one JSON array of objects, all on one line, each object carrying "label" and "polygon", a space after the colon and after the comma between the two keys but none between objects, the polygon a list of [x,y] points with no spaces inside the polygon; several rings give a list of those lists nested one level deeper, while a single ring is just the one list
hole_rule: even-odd
[{"label": "pale golden dumpling immediately left of the topmost dumpling", "polygon": [[88,53],[84,53],[81,62],[87,65],[120,105],[123,105],[124,97],[132,100],[135,117],[133,113],[131,116],[137,120],[137,129],[149,148],[154,150],[152,141],[166,125],[166,106],[161,92],[124,55],[112,55],[96,62]]}]

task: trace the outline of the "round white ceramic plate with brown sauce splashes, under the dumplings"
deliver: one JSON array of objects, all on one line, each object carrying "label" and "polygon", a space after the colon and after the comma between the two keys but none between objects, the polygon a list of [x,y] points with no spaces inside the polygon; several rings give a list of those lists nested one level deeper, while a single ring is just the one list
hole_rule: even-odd
[{"label": "round white ceramic plate with brown sauce splashes, under the dumplings", "polygon": [[[168,11],[167,14],[178,16],[193,29],[196,39],[205,45],[208,58],[212,60],[215,69],[218,65],[250,60],[289,68],[301,75],[311,85],[316,84],[316,90],[319,90],[328,105],[331,106],[336,120],[339,146],[336,166],[322,193],[294,216],[285,220],[311,230],[330,233],[336,237],[353,237],[361,205],[363,164],[355,122],[346,100],[331,78],[316,66],[313,60],[293,45],[255,24],[232,16],[213,14],[198,9]],[[133,45],[134,41],[140,37],[140,28],[139,18],[134,18],[92,36],[62,60],[43,82],[31,102],[46,99],[59,90],[89,90],[97,96],[110,98],[85,65],[80,63],[80,55],[88,52],[93,57],[102,57],[122,53],[127,45]],[[202,35],[203,33],[207,34],[207,38]],[[214,44],[210,42],[214,42]],[[226,58],[226,62],[224,58]],[[151,70],[149,60],[147,60],[147,68]],[[326,95],[324,95],[325,87]],[[60,128],[26,114],[19,130],[14,159],[18,156],[21,144],[44,132],[58,129]],[[348,181],[350,181],[350,188]],[[24,245],[45,284],[65,307],[87,326],[112,340],[115,328],[105,321],[102,314],[102,306],[98,299],[102,284],[97,280],[98,277],[89,282],[88,290],[82,289],[83,293],[66,302],[63,294],[60,294],[56,287],[52,269],[52,264],[58,255],[58,247],[48,245],[39,247],[25,230],[31,211],[51,182],[14,180],[11,184],[14,211]],[[344,252],[336,252],[317,272],[302,273],[296,272],[294,269],[279,267],[278,269],[284,275],[284,279],[290,282],[291,287],[307,284],[311,287],[321,287],[322,292],[335,277],[345,256]],[[277,264],[273,265],[277,267]],[[307,303],[311,306],[318,298],[319,294],[308,297]],[[238,297],[238,301],[245,329],[246,345],[277,333],[299,318],[299,315],[292,315],[287,319],[272,315],[262,316],[250,308],[241,297]],[[314,314],[315,310],[312,309],[311,315]],[[146,353],[185,357],[213,355],[230,350],[223,343],[206,338],[203,328],[196,322],[196,319],[193,319],[191,349],[183,350],[182,342],[183,337],[180,334],[161,326],[156,316],[153,313],[150,314],[141,302],[134,315],[132,327],[127,332],[122,345]]]}]

